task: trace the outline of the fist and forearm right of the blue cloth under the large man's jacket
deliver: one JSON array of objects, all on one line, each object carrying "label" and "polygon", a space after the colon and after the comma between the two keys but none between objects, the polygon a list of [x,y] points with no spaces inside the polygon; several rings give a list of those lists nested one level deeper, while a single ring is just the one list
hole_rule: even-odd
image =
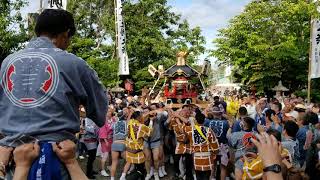
[{"label": "fist and forearm right of the blue cloth under the large man's jacket", "polygon": [[59,144],[52,144],[53,151],[65,164],[72,180],[87,180],[76,159],[76,145],[70,140],[65,140]]}]

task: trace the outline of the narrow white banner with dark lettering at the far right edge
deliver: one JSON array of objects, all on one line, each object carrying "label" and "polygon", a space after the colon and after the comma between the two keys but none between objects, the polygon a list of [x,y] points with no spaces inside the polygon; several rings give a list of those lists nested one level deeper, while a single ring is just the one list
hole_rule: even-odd
[{"label": "narrow white banner with dark lettering at the far right edge", "polygon": [[311,67],[310,77],[320,77],[320,21],[313,20],[312,23],[312,50],[311,50]]}]

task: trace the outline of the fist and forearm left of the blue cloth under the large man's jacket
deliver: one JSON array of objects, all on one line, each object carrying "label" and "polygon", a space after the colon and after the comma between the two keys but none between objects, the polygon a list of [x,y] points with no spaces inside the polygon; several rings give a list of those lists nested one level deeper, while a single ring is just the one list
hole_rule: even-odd
[{"label": "fist and forearm left of the blue cloth under the large man's jacket", "polygon": [[13,151],[16,163],[13,180],[27,180],[33,161],[39,156],[40,146],[38,143],[23,144]]}]

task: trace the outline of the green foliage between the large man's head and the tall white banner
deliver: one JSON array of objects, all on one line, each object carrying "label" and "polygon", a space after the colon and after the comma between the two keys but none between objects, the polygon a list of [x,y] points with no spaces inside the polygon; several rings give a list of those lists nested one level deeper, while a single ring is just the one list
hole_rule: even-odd
[{"label": "green foliage between the large man's head and the tall white banner", "polygon": [[113,1],[70,0],[77,33],[68,48],[95,69],[106,87],[120,83],[118,61],[115,59]]}]

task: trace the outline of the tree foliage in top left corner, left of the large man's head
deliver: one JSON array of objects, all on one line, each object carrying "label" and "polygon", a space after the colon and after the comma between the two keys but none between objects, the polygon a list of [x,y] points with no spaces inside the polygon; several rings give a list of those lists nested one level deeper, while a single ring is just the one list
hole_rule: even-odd
[{"label": "tree foliage in top left corner, left of the large man's head", "polygon": [[0,2],[0,64],[13,51],[21,48],[28,38],[20,9],[24,0]]}]

